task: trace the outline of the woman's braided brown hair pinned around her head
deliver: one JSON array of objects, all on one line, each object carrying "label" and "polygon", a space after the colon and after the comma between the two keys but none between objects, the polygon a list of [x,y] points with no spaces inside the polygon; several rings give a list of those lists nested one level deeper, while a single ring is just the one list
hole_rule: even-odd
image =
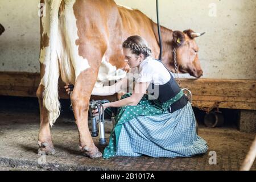
[{"label": "woman's braided brown hair pinned around her head", "polygon": [[146,40],[141,36],[130,36],[123,42],[123,48],[130,48],[131,52],[140,55],[141,53],[146,57],[152,55],[151,48],[148,46]]}]

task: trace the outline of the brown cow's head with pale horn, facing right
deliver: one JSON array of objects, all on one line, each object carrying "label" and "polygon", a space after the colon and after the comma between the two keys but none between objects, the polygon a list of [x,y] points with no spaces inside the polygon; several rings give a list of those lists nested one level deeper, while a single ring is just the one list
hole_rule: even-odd
[{"label": "brown cow's head with pale horn, facing right", "polygon": [[173,32],[179,72],[189,73],[191,76],[197,78],[203,76],[203,70],[198,56],[199,48],[195,42],[195,38],[204,34],[196,33],[192,30]]}]

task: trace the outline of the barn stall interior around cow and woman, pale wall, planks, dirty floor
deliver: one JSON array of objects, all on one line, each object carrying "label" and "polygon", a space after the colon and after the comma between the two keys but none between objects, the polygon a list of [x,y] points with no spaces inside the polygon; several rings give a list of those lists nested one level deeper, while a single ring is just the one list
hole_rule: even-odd
[{"label": "barn stall interior around cow and woman, pale wall, planks, dirty floor", "polygon": [[[156,22],[154,0],[150,3],[146,0],[115,2],[141,10]],[[52,129],[58,152],[46,156],[47,164],[40,165],[36,146],[40,122],[36,90],[40,83],[38,14],[41,7],[39,1],[32,0],[29,3],[27,0],[0,2],[0,23],[5,27],[0,36],[2,166],[9,168],[8,165],[13,163],[14,167],[22,169],[24,166],[35,169],[240,169],[256,131],[255,1],[159,1],[162,26],[171,30],[191,28],[207,32],[196,40],[203,77],[195,79],[188,74],[176,77],[182,88],[191,90],[199,135],[207,140],[209,152],[216,152],[216,165],[208,164],[209,152],[189,159],[150,159],[144,156],[97,162],[86,159],[75,148],[78,145],[74,140],[77,138],[75,119],[61,81],[59,95],[63,112]],[[118,97],[92,99],[115,101]],[[106,122],[107,137],[111,129],[112,123]],[[95,141],[97,145],[98,139]],[[255,163],[252,169],[256,169]]]}]

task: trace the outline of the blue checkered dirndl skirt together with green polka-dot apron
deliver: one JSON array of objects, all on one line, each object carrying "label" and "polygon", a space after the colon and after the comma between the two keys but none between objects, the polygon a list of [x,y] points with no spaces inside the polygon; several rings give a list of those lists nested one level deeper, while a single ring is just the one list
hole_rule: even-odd
[{"label": "blue checkered dirndl skirt together with green polka-dot apron", "polygon": [[[137,106],[119,107],[103,157],[147,155],[175,158],[207,152],[207,142],[196,133],[191,104],[188,102],[174,113],[168,111],[183,94],[181,90],[162,104],[158,100],[148,100],[145,94]],[[130,96],[131,93],[127,93],[121,99]]]}]

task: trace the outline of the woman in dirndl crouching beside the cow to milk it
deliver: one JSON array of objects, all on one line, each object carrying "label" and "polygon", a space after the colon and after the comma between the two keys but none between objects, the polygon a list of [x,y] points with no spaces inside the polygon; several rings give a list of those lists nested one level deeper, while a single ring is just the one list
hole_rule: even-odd
[{"label": "woman in dirndl crouching beside the cow to milk it", "polygon": [[[129,37],[123,43],[123,53],[132,72],[137,71],[139,76],[133,93],[104,104],[105,109],[118,108],[104,158],[115,155],[175,158],[207,152],[207,142],[196,134],[195,115],[188,98],[172,73],[150,57],[146,40],[140,36]],[[104,96],[106,90],[108,95],[117,93],[127,88],[128,80],[126,77],[112,86],[95,88],[92,94]],[[70,92],[68,87],[65,86]]]}]

